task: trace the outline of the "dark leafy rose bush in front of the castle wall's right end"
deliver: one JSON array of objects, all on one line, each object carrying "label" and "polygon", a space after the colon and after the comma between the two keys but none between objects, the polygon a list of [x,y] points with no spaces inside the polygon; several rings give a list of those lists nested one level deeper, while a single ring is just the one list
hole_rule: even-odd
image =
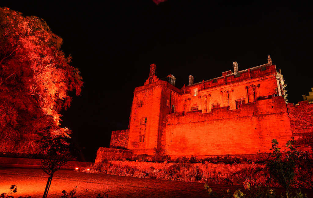
[{"label": "dark leafy rose bush in front of the castle wall's right end", "polygon": [[292,140],[289,140],[286,144],[286,147],[289,149],[286,152],[286,149],[283,153],[280,151],[281,148],[278,148],[279,143],[277,140],[272,140],[272,149],[273,153],[269,153],[269,161],[267,162],[267,168],[270,175],[278,180],[280,184],[287,189],[288,195],[290,195],[290,188],[295,185],[295,175],[298,171],[297,158],[299,151],[297,151],[297,146],[295,146],[294,137]]}]

